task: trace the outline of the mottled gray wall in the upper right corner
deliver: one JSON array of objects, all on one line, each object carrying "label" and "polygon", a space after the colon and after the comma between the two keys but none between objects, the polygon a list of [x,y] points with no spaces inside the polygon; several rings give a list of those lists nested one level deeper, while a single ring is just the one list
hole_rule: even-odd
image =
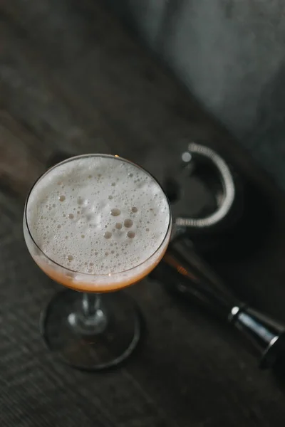
[{"label": "mottled gray wall in the upper right corner", "polygon": [[285,189],[285,1],[107,3]]}]

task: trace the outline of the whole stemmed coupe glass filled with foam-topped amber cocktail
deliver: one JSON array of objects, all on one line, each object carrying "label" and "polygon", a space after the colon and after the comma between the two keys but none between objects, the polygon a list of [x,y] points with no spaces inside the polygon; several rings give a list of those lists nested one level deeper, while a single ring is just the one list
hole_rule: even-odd
[{"label": "whole stemmed coupe glass filled with foam-topped amber cocktail", "polygon": [[53,352],[73,367],[95,370],[133,352],[140,337],[137,307],[112,291],[155,268],[171,225],[160,184],[118,156],[72,157],[36,181],[24,212],[28,251],[46,275],[70,288],[51,300],[42,318]]}]

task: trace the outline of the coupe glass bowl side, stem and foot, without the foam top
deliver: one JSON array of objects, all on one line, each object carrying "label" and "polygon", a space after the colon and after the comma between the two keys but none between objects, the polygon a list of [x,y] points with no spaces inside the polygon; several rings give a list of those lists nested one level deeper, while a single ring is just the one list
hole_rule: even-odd
[{"label": "coupe glass bowl side, stem and foot, without the foam top", "polygon": [[[73,159],[98,156],[115,158],[105,154],[72,157],[48,169],[33,184],[31,191],[59,165],[73,162]],[[128,160],[118,159],[132,164]],[[138,165],[134,166],[142,169]],[[148,172],[144,172],[157,182]],[[130,356],[140,339],[140,312],[135,302],[120,289],[145,278],[165,254],[172,228],[170,205],[168,204],[170,219],[165,237],[147,260],[130,270],[95,275],[66,268],[43,252],[28,226],[27,206],[31,191],[24,210],[24,238],[28,251],[46,275],[68,288],[58,292],[42,313],[43,338],[51,352],[72,367],[89,371],[114,367]],[[165,199],[167,200],[166,195]],[[104,292],[98,292],[96,280],[101,282],[102,279],[108,286]]]}]

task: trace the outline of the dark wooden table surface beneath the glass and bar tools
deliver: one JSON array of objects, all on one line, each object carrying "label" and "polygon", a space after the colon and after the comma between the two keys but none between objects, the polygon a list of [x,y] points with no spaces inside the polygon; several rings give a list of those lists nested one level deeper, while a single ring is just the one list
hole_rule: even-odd
[{"label": "dark wooden table surface beneath the glass and bar tools", "polygon": [[21,216],[48,157],[120,154],[162,179],[190,140],[217,149],[266,194],[274,225],[259,251],[216,267],[285,322],[285,199],[274,182],[100,2],[1,1],[1,427],[284,426],[282,381],[259,371],[229,327],[182,308],[159,283],[129,290],[147,332],[120,369],[63,367],[39,336],[39,312],[58,287],[30,259]]}]

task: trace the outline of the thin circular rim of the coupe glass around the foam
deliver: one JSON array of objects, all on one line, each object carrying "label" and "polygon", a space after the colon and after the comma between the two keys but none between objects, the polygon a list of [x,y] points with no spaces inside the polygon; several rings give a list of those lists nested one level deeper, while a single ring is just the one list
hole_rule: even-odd
[{"label": "thin circular rim of the coupe glass around the foam", "polygon": [[[106,274],[82,273],[81,271],[72,270],[72,268],[65,267],[64,265],[61,265],[60,263],[57,263],[55,260],[53,260],[52,258],[50,258],[48,255],[46,255],[46,253],[43,252],[43,250],[38,246],[38,243],[36,243],[35,239],[33,238],[31,230],[30,230],[30,228],[28,226],[28,215],[27,215],[28,200],[29,200],[29,198],[31,196],[31,192],[36,187],[36,185],[38,184],[38,182],[41,181],[41,179],[43,179],[53,169],[56,169],[56,167],[61,166],[61,164],[72,162],[73,160],[81,159],[83,157],[109,157],[109,158],[112,158],[112,159],[118,159],[118,160],[120,159],[120,161],[123,161],[123,162],[128,163],[128,164],[133,164],[133,166],[138,167],[138,169],[141,169],[148,176],[150,176],[153,179],[153,181],[155,181],[156,184],[160,187],[162,193],[165,195],[165,199],[167,200],[168,210],[169,210],[169,221],[168,221],[168,225],[167,225],[167,230],[165,232],[165,236],[163,237],[162,242],[160,243],[160,246],[158,246],[158,248],[155,250],[155,252],[153,252],[148,258],[146,258],[144,261],[142,261],[142,263],[140,263],[138,265],[135,265],[135,267],[128,268],[127,270],[123,270],[123,271],[117,271],[115,273],[106,273]],[[164,189],[162,189],[162,186],[157,181],[157,179],[155,178],[155,176],[153,176],[150,172],[148,172],[145,168],[141,167],[139,164],[136,164],[135,162],[132,162],[132,161],[130,161],[128,159],[125,159],[124,157],[120,157],[118,154],[96,154],[96,153],[78,154],[77,156],[68,157],[68,159],[63,160],[62,162],[59,162],[59,163],[53,165],[52,167],[48,168],[46,170],[46,172],[43,172],[43,174],[41,174],[40,176],[38,176],[38,179],[36,179],[36,181],[34,181],[33,185],[31,186],[31,189],[28,191],[28,195],[26,196],[26,202],[25,202],[25,207],[24,207],[24,218],[25,218],[26,229],[28,231],[28,236],[31,238],[31,241],[36,246],[36,248],[38,249],[38,251],[40,251],[40,253],[44,256],[44,258],[46,258],[47,260],[51,261],[51,263],[53,263],[54,265],[57,265],[58,267],[63,268],[63,270],[67,270],[70,273],[76,273],[76,274],[83,275],[83,276],[99,277],[99,278],[100,277],[101,278],[102,277],[106,277],[107,278],[107,277],[112,277],[112,276],[115,276],[115,275],[120,275],[122,273],[128,273],[129,271],[135,270],[135,268],[138,268],[141,265],[145,264],[148,260],[150,260],[152,258],[153,255],[155,255],[155,253],[157,253],[157,251],[160,250],[160,248],[162,248],[163,243],[165,243],[165,239],[167,238],[168,233],[170,232],[170,227],[172,226],[172,212],[171,212],[170,201],[169,201],[169,199],[167,197],[167,194],[165,193]]]}]

